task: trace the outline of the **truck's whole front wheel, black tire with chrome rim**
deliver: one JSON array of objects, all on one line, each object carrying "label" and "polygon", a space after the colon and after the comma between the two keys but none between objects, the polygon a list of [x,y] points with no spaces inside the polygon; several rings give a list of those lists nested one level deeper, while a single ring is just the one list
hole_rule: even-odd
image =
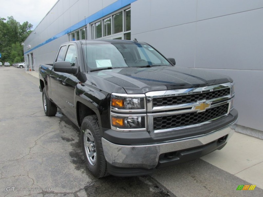
[{"label": "truck's whole front wheel, black tire with chrome rim", "polygon": [[98,178],[108,176],[97,116],[85,117],[80,131],[82,151],[90,172]]}]

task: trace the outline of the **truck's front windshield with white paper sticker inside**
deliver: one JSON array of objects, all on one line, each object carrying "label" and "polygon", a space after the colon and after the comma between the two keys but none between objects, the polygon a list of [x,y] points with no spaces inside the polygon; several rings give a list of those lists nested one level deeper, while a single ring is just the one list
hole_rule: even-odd
[{"label": "truck's front windshield with white paper sticker inside", "polygon": [[83,44],[82,49],[90,70],[171,65],[148,44]]}]

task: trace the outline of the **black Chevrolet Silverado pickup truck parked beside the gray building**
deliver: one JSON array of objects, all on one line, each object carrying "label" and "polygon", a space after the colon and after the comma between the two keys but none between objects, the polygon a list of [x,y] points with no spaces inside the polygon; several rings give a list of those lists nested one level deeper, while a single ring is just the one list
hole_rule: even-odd
[{"label": "black Chevrolet Silverado pickup truck parked beside the gray building", "polygon": [[44,112],[80,128],[95,177],[135,176],[225,146],[237,121],[230,77],[175,66],[151,45],[78,40],[40,65]]}]

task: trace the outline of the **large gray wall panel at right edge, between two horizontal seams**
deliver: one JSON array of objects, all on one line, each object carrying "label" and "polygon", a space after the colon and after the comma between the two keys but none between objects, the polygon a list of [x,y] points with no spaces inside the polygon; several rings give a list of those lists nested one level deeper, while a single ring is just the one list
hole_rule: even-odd
[{"label": "large gray wall panel at right edge, between two horizontal seams", "polygon": [[256,9],[197,22],[195,67],[262,70],[262,18]]}]

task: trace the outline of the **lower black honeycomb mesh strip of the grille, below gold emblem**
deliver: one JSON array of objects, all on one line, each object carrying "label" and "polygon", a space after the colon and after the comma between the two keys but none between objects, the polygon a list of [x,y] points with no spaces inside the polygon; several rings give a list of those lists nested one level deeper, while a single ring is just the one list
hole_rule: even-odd
[{"label": "lower black honeycomb mesh strip of the grille, below gold emblem", "polygon": [[169,129],[203,123],[227,114],[229,104],[210,108],[204,112],[180,113],[153,118],[153,129]]}]

